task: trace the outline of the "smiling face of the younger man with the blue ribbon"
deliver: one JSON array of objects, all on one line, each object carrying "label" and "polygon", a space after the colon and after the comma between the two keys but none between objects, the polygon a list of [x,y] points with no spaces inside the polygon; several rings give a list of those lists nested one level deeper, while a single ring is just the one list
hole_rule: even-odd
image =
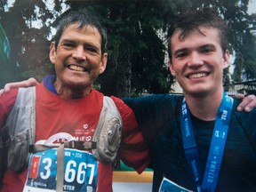
[{"label": "smiling face of the younger man with the blue ribbon", "polygon": [[229,52],[221,49],[218,29],[200,30],[203,34],[194,30],[181,40],[177,30],[171,38],[170,71],[184,93],[194,96],[221,92],[223,68],[229,64]]}]

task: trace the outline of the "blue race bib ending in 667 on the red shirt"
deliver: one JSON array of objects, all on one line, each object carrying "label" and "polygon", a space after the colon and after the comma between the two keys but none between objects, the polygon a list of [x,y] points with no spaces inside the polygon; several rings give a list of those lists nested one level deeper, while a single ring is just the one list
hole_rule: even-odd
[{"label": "blue race bib ending in 667 on the red shirt", "polygon": [[[63,191],[96,192],[98,162],[92,154],[71,148],[64,149]],[[30,156],[28,177],[23,192],[56,191],[57,148]]]}]

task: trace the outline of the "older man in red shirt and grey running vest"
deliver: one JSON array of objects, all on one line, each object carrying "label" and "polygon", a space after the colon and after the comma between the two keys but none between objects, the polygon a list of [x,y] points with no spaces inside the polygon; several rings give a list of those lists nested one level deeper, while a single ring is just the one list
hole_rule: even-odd
[{"label": "older man in red shirt and grey running vest", "polygon": [[142,172],[148,164],[132,109],[92,88],[107,66],[106,42],[105,28],[89,12],[68,12],[50,47],[55,75],[3,94],[0,191],[111,192],[121,132],[124,151],[136,148],[132,167]]}]

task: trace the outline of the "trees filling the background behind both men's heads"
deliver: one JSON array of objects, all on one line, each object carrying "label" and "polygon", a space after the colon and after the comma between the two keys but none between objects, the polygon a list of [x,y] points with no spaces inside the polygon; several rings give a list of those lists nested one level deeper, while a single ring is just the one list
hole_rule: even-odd
[{"label": "trees filling the background behind both men's heads", "polygon": [[[255,15],[246,12],[248,1],[54,0],[51,9],[47,0],[16,0],[10,9],[6,9],[6,0],[1,1],[0,22],[8,36],[13,61],[8,68],[0,62],[0,85],[29,76],[41,81],[49,74],[52,70],[48,59],[49,36],[51,28],[56,26],[52,19],[66,5],[94,13],[108,30],[108,68],[95,84],[101,92],[118,97],[170,92],[173,79],[167,68],[164,34],[180,13],[212,6],[228,20],[230,51],[235,52],[235,73],[232,79],[225,76],[227,88],[232,81],[256,76],[255,36],[252,36],[256,24]],[[33,27],[36,20],[40,20],[41,28]]]}]

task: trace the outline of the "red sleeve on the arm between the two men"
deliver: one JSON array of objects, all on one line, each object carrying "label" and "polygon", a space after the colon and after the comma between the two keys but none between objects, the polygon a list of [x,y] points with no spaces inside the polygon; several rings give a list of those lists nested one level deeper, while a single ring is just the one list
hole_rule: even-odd
[{"label": "red sleeve on the arm between the two men", "polygon": [[140,132],[140,127],[132,108],[129,108],[123,100],[113,96],[111,99],[115,101],[124,125],[119,156],[124,164],[141,173],[150,163],[148,146]]}]

